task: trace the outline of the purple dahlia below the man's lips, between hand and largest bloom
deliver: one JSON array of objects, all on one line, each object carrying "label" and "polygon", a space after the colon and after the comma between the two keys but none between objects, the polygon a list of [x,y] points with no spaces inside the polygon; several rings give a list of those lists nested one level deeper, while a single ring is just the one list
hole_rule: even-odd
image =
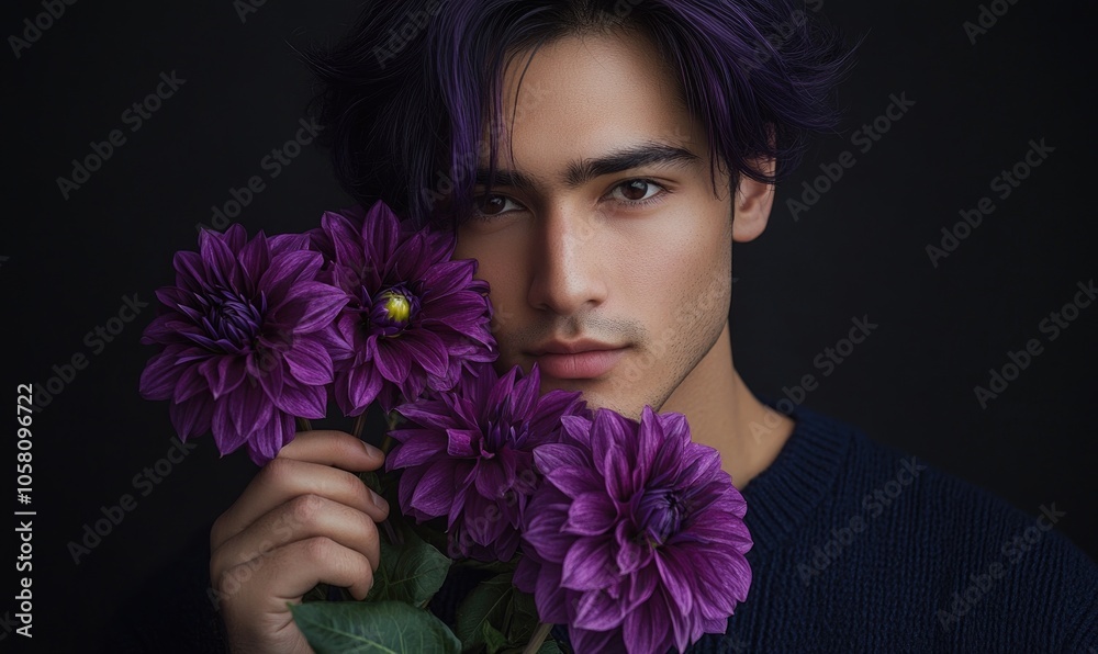
[{"label": "purple dahlia below the man's lips, between hand and largest bloom", "polygon": [[562,416],[585,415],[580,393],[538,396],[537,364],[498,377],[482,363],[458,385],[396,407],[408,426],[386,470],[403,469],[400,506],[424,521],[446,516],[450,553],[509,561],[519,542],[529,496],[541,482],[531,450],[561,437]]}]

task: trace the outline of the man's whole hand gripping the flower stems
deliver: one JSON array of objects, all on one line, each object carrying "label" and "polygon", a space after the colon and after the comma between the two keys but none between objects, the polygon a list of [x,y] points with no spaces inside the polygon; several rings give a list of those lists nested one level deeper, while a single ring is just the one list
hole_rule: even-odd
[{"label": "man's whole hand gripping the flower stems", "polygon": [[349,433],[298,433],[217,518],[210,579],[233,652],[312,652],[287,602],[318,583],[366,597],[389,506],[355,473],[383,462]]}]

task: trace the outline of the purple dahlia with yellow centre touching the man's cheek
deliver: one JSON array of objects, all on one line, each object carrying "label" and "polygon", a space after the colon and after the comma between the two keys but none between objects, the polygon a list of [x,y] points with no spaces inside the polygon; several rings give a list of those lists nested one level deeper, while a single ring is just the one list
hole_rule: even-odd
[{"label": "purple dahlia with yellow centre touching the man's cheek", "polygon": [[451,261],[450,234],[402,225],[382,202],[326,212],[312,232],[334,285],[346,293],[336,325],[344,341],[335,399],[357,416],[376,398],[391,410],[403,394],[445,391],[463,367],[496,358],[488,283],[477,262]]}]

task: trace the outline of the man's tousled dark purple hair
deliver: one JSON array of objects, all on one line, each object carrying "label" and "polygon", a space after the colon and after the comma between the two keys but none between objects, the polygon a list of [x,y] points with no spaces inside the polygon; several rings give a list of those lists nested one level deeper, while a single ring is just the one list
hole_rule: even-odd
[{"label": "man's tousled dark purple hair", "polygon": [[[838,122],[828,98],[850,52],[814,18],[792,0],[379,0],[343,43],[303,57],[321,82],[314,113],[344,189],[425,224],[466,215],[482,149],[494,173],[511,59],[608,30],[659,48],[733,185],[741,174],[776,183],[808,137]],[[755,168],[765,158],[773,174]]]}]

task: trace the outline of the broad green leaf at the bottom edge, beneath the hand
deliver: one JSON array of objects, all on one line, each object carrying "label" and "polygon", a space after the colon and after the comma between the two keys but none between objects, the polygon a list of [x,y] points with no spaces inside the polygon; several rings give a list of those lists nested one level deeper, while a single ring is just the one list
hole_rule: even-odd
[{"label": "broad green leaf at the bottom edge, beneath the hand", "polygon": [[316,654],[457,654],[461,642],[429,611],[400,601],[290,605]]}]

